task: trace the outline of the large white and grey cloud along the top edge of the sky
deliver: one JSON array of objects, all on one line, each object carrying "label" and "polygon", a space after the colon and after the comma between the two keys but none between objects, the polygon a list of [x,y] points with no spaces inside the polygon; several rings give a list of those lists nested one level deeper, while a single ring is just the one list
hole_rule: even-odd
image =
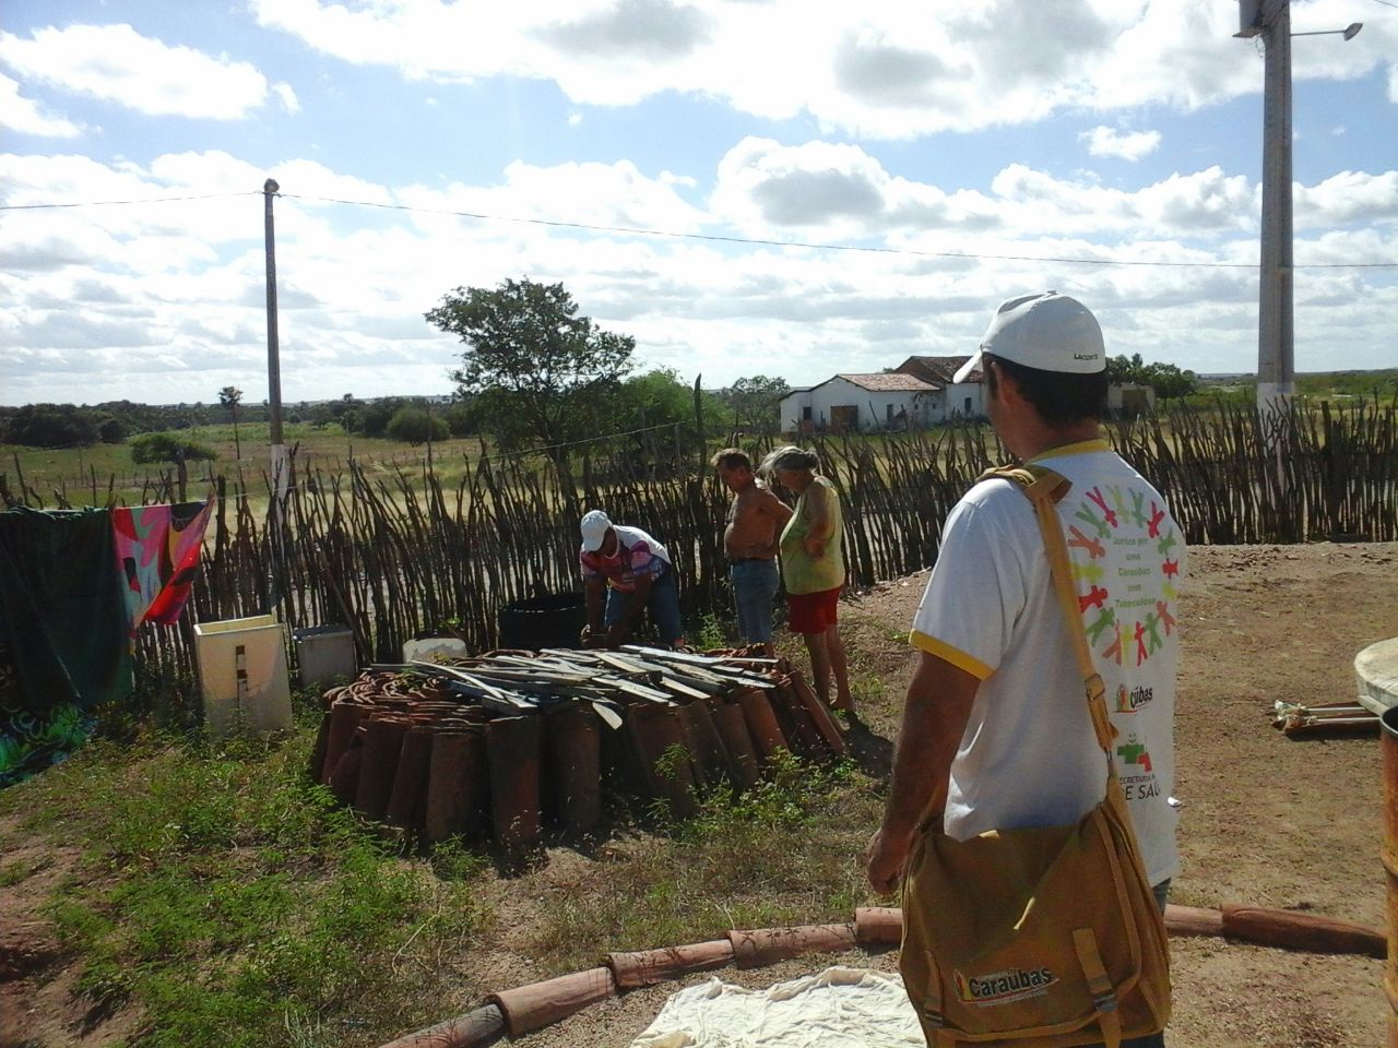
[{"label": "large white and grey cloud along the top edge of the sky", "polygon": [[[1297,10],[1324,18],[1331,7]],[[1019,124],[1068,108],[1197,109],[1262,82],[1255,50],[1233,39],[1236,6],[1219,0],[253,0],[253,10],[309,48],[410,78],[549,80],[573,105],[675,91],[759,117],[809,113],[823,133],[871,138]],[[1297,78],[1366,74],[1391,52],[1374,36],[1343,54],[1306,49]],[[1390,89],[1398,94],[1392,80]]]}]

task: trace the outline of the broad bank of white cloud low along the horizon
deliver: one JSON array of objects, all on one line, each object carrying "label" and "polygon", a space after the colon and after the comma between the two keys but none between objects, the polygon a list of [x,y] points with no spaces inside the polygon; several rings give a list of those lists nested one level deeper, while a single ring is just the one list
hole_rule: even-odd
[{"label": "broad bank of white cloud low along the horizon", "polygon": [[[285,193],[274,207],[288,401],[446,391],[460,345],[422,313],[450,288],[519,275],[563,281],[583,313],[637,338],[646,366],[675,367],[686,380],[702,373],[705,384],[759,372],[814,383],[913,352],[965,352],[995,302],[1043,286],[1093,306],[1113,354],[1205,372],[1247,370],[1255,359],[1258,194],[1222,168],[1123,190],[1008,165],[986,191],[948,191],[896,177],[857,147],[765,138],[744,140],[723,165],[703,210],[679,196],[692,179],[625,161],[514,163],[492,184],[443,189],[377,184],[309,159],[267,170],[215,151],[145,166],[0,155],[10,200],[224,194],[7,215],[0,398],[52,400],[62,384],[88,402],[208,402],[232,383],[260,400],[259,190],[268,173]],[[1395,257],[1395,180],[1398,172],[1348,173],[1299,186],[1297,263]],[[835,229],[898,253],[608,235],[443,211],[773,239],[821,240]],[[1359,228],[1339,232],[1338,222]],[[1240,268],[1208,265],[1216,261]],[[1297,363],[1327,338],[1327,319],[1342,316],[1350,366],[1383,366],[1398,305],[1387,274],[1303,274]]]}]

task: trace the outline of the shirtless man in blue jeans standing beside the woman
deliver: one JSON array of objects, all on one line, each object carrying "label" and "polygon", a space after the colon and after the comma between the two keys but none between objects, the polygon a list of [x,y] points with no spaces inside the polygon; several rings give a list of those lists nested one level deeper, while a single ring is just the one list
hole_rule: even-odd
[{"label": "shirtless man in blue jeans standing beside the woman", "polygon": [[752,460],[737,447],[713,457],[719,479],[733,492],[723,548],[728,556],[728,577],[738,606],[738,633],[749,644],[761,644],[768,658],[772,647],[772,601],[777,594],[777,544],[791,510],[766,486],[758,483]]}]

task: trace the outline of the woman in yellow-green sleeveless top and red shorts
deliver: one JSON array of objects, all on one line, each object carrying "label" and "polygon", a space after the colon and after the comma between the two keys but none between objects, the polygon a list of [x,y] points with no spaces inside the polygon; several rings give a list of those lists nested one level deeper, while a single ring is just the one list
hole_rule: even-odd
[{"label": "woman in yellow-green sleeveless top and red shorts", "polygon": [[797,493],[795,511],[781,532],[781,581],[787,591],[788,625],[805,640],[811,678],[821,701],[854,713],[844,641],[836,625],[844,585],[844,518],[835,485],[816,470],[821,458],[794,444],[779,447],[762,461],[762,472],[774,475]]}]

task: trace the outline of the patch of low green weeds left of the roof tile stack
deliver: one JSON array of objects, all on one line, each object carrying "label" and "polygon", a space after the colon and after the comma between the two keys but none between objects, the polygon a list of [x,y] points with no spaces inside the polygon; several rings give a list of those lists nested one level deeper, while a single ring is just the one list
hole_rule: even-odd
[{"label": "patch of low green weeds left of the roof tile stack", "polygon": [[484,922],[484,864],[447,850],[442,879],[400,859],[305,780],[312,738],[98,741],[0,795],[0,812],[62,820],[82,850],[45,912],[88,998],[140,1006],[138,1044],[330,1045],[411,1027]]}]

